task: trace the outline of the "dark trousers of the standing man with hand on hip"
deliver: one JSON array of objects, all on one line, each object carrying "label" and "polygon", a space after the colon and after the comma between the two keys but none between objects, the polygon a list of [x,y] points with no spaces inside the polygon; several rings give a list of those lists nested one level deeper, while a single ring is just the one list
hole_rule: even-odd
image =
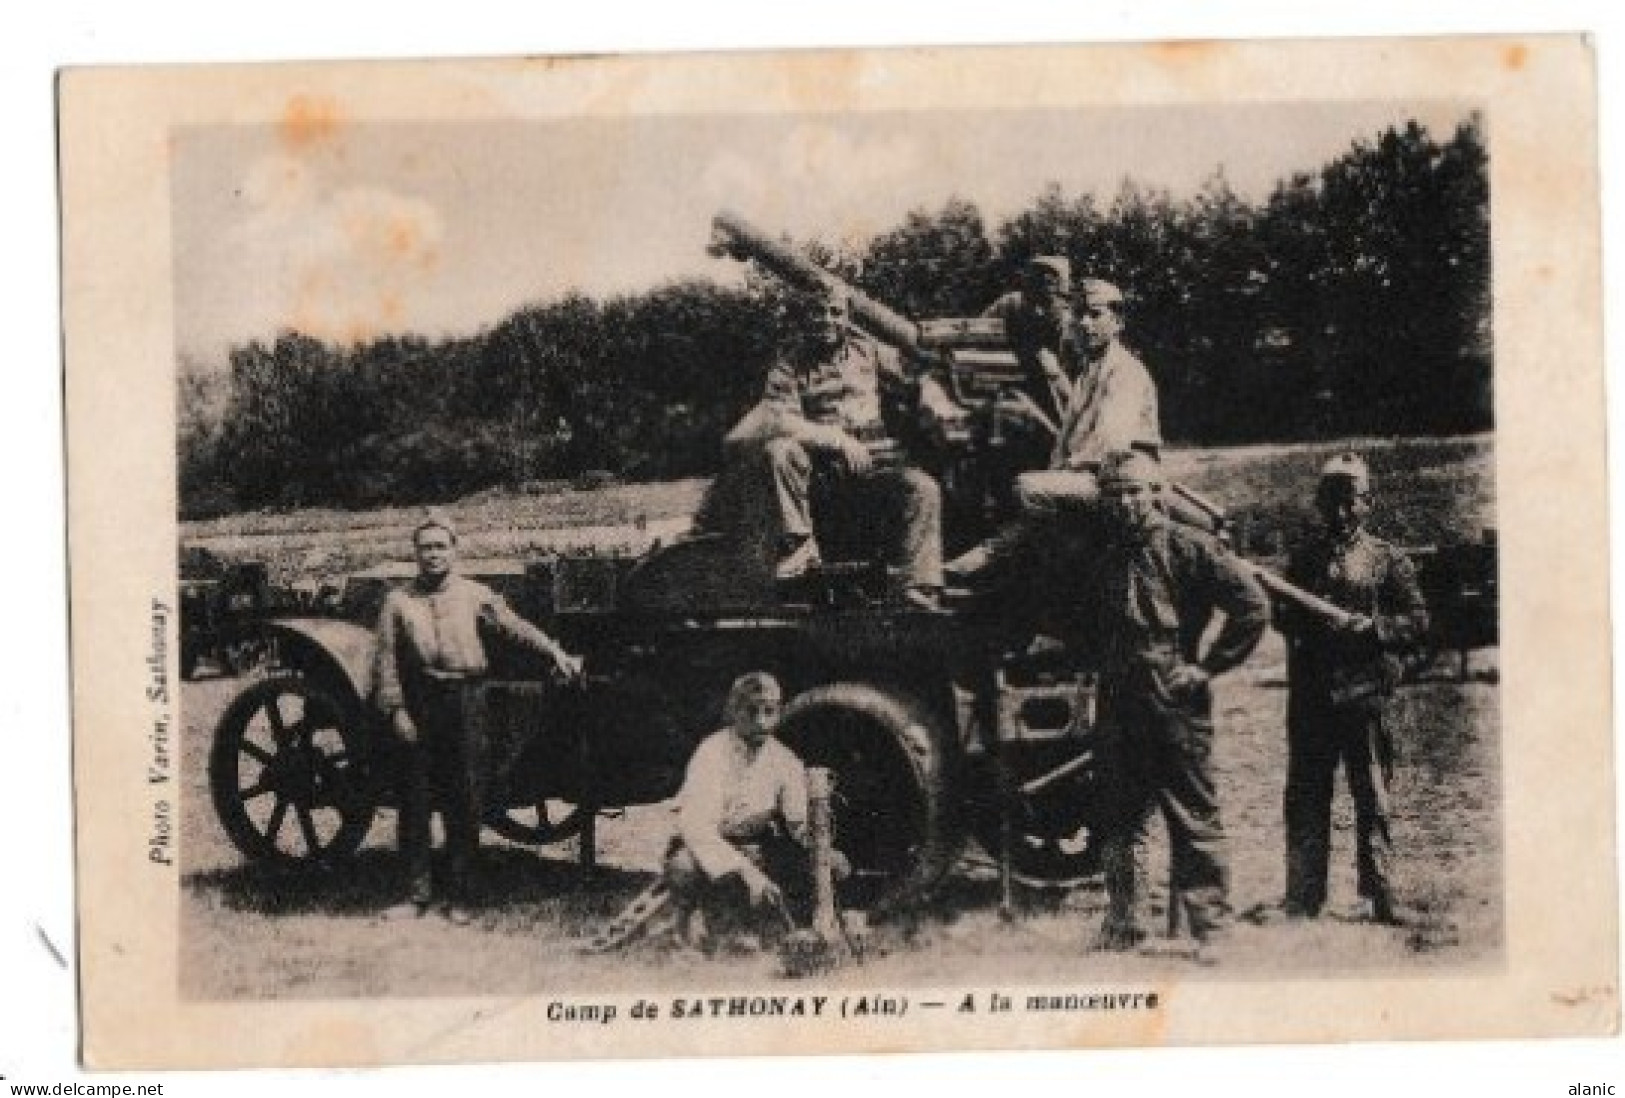
[{"label": "dark trousers of the standing man with hand on hip", "polygon": [[1172,698],[1160,685],[1102,697],[1107,877],[1103,936],[1146,936],[1147,832],[1160,811],[1172,859],[1170,903],[1198,939],[1230,924],[1230,864],[1212,776],[1212,702],[1206,687]]}]

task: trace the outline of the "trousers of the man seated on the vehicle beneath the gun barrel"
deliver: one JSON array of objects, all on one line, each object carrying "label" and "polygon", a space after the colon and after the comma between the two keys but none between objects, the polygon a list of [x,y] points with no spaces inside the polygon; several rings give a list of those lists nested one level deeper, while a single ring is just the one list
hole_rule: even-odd
[{"label": "trousers of the man seated on the vehicle beneath the gun barrel", "polygon": [[769,562],[786,536],[816,533],[827,555],[861,559],[879,551],[904,583],[942,583],[942,491],[928,473],[822,469],[791,439],[730,443],[696,525],[743,536]]}]

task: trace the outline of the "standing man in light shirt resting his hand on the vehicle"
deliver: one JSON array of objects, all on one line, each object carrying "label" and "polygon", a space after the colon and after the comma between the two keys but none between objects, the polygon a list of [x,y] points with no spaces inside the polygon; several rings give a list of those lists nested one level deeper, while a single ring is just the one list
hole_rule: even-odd
[{"label": "standing man in light shirt resting his hand on the vehicle", "polygon": [[564,677],[582,663],[515,614],[507,601],[457,575],[457,530],[431,515],[413,531],[418,577],[379,612],[374,702],[390,720],[401,767],[396,836],[408,897],[385,916],[421,916],[434,903],[429,811],[445,822],[444,913],[466,924],[468,879],[484,819],[486,752],[476,684],[488,669],[481,625],[549,658]]}]

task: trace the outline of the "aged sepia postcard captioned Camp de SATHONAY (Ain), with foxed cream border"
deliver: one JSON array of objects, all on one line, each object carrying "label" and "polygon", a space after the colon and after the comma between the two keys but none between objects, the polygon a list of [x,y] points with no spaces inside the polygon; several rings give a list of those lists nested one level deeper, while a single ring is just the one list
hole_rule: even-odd
[{"label": "aged sepia postcard captioned Camp de SATHONAY (Ain), with foxed cream border", "polygon": [[63,73],[86,1062],[1617,1031],[1592,65]]}]

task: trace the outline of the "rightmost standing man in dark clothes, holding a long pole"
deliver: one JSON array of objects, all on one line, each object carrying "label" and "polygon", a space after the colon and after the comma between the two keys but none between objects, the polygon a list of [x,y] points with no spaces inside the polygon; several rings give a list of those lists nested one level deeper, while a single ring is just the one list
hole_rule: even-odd
[{"label": "rightmost standing man in dark clothes, holding a long pole", "polygon": [[1384,710],[1399,655],[1427,632],[1410,560],[1365,530],[1372,474],[1344,453],[1321,471],[1321,531],[1292,555],[1287,578],[1350,612],[1339,625],[1280,606],[1287,674],[1287,895],[1282,913],[1313,918],[1326,903],[1331,798],[1337,763],[1354,796],[1362,916],[1404,921],[1389,874],[1388,781],[1393,737]]}]

